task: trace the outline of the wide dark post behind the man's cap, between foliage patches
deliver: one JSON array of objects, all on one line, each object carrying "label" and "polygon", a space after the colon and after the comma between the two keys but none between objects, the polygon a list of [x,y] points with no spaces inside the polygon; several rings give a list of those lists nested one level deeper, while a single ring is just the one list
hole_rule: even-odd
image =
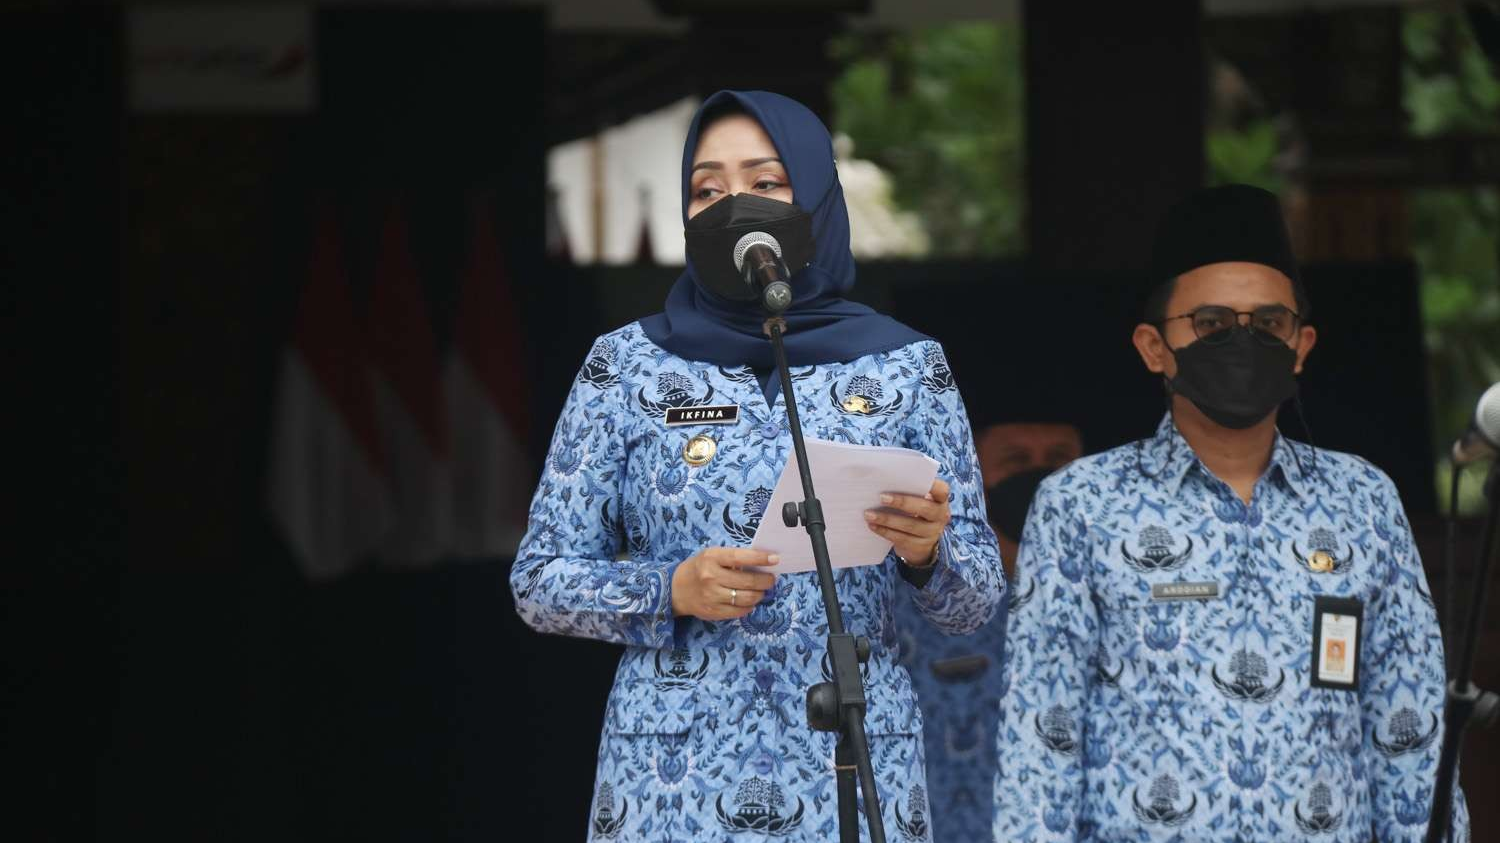
[{"label": "wide dark post behind the man's cap, between foliage patches", "polygon": [[1156,219],[1203,183],[1198,0],[1034,0],[1026,21],[1029,261],[1040,276],[1144,267]]}]

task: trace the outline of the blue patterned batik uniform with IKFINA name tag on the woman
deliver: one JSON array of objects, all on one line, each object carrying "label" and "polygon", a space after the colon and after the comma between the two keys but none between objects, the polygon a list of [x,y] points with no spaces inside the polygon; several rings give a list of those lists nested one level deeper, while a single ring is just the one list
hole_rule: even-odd
[{"label": "blue patterned batik uniform with IKFINA name tag on the woman", "polygon": [[[844,624],[873,651],[867,729],[886,832],[930,840],[922,722],[896,663],[890,606],[910,590],[938,628],[963,633],[1004,596],[963,404],[933,342],[794,368],[792,381],[808,436],[921,450],[952,486],[952,522],[921,591],[894,556],[836,576]],[[666,408],[729,404],[735,424],[663,424]],[[682,458],[696,435],[717,441],[700,466]],[[816,574],[780,576],[736,621],[672,615],[676,566],[704,548],[747,546],[789,454],[782,394],[768,405],[747,368],[684,360],[638,324],[600,338],[585,360],[512,588],[534,628],[626,645],[590,840],[836,838],[834,736],[810,730],[804,712],[808,686],[830,672]]]}]

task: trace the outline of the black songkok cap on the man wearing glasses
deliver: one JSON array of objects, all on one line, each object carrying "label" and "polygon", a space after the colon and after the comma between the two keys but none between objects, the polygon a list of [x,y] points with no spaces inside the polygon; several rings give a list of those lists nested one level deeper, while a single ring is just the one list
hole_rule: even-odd
[{"label": "black songkok cap on the man wearing glasses", "polygon": [[1226,261],[1280,270],[1300,290],[1298,261],[1275,194],[1250,184],[1206,188],[1161,218],[1150,258],[1152,285]]}]

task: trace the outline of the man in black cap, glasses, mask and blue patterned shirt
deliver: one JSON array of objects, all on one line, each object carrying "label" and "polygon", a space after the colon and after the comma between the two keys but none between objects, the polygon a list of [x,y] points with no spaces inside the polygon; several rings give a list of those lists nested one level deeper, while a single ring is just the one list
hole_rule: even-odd
[{"label": "man in black cap, glasses, mask and blue patterned shirt", "polygon": [[1390,480],[1276,430],[1317,340],[1276,198],[1188,196],[1152,284],[1166,417],[1022,534],[994,837],[1420,842],[1443,644]]}]

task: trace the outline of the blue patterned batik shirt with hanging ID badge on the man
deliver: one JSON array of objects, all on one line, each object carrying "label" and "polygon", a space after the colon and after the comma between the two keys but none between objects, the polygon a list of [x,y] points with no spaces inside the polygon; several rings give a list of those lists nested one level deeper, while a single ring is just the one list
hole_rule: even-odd
[{"label": "blue patterned batik shirt with hanging ID badge on the man", "polygon": [[[996,840],[1424,838],[1443,645],[1368,462],[1278,435],[1245,506],[1168,416],[1042,483],[1017,570]],[[1358,688],[1311,686],[1324,596],[1364,603]],[[1461,796],[1454,826],[1468,837]]]}]

